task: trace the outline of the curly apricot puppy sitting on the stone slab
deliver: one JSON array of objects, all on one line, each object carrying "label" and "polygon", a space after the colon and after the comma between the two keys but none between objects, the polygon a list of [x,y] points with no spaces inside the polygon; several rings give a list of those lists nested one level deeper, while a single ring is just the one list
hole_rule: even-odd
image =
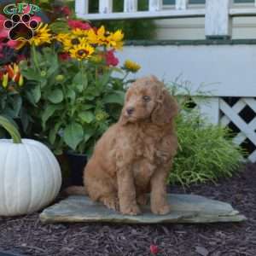
[{"label": "curly apricot puppy sitting on the stone slab", "polygon": [[[150,192],[151,211],[170,212],[166,177],[177,150],[177,109],[177,102],[154,76],[131,84],[119,122],[96,143],[84,169],[85,188],[93,201],[136,215]],[[69,194],[80,193],[81,188],[69,189]]]}]

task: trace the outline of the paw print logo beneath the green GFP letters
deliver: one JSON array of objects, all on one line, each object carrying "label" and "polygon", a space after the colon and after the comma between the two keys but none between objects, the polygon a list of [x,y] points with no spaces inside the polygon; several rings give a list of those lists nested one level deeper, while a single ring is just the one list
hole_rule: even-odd
[{"label": "paw print logo beneath the green GFP letters", "polygon": [[5,20],[3,26],[9,30],[11,40],[25,39],[33,37],[38,21],[32,20],[30,15],[12,15],[10,20]]}]

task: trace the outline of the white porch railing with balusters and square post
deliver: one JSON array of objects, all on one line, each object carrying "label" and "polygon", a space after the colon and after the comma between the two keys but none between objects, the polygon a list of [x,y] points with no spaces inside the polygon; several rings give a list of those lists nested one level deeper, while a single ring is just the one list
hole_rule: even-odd
[{"label": "white porch railing with balusters and square post", "polygon": [[189,0],[176,0],[173,9],[164,9],[162,0],[149,0],[148,11],[138,11],[137,1],[124,1],[124,10],[113,12],[113,0],[99,1],[99,12],[89,13],[89,0],[76,0],[76,15],[84,20],[124,20],[139,18],[186,18],[204,17],[206,37],[231,37],[232,18],[243,15],[256,15],[256,0],[254,6],[242,7],[233,0],[207,0],[203,8],[190,8]]}]

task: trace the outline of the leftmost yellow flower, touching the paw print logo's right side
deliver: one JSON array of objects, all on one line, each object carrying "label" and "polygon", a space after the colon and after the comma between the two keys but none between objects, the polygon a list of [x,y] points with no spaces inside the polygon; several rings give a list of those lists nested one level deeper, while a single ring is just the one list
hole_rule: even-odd
[{"label": "leftmost yellow flower, touching the paw print logo's right side", "polygon": [[48,24],[40,23],[38,28],[35,30],[33,37],[28,41],[29,44],[36,46],[48,43],[52,40],[52,34],[50,33]]}]

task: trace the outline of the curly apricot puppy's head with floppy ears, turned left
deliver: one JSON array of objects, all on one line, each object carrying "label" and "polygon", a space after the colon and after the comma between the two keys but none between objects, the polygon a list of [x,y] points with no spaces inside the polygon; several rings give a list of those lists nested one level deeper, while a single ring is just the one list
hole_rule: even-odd
[{"label": "curly apricot puppy's head with floppy ears, turned left", "polygon": [[122,110],[123,124],[149,121],[156,124],[171,122],[177,114],[177,102],[170,96],[163,83],[154,76],[131,84],[126,92]]}]

